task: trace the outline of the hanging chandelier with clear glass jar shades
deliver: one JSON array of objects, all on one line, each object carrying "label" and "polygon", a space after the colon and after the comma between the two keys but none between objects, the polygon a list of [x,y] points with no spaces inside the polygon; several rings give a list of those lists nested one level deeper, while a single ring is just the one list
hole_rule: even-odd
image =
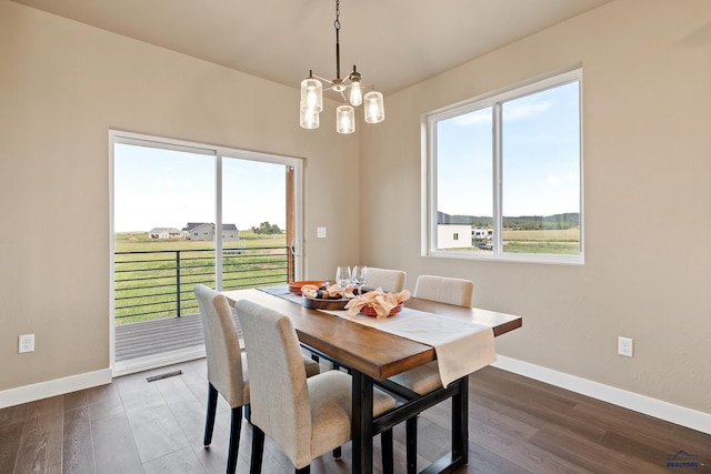
[{"label": "hanging chandelier with clear glass jar shades", "polygon": [[[353,70],[341,79],[341,50],[339,44],[339,31],[341,22],[340,0],[336,0],[336,79],[328,79],[316,75],[312,70],[309,77],[301,81],[301,107],[300,123],[304,129],[319,128],[319,114],[323,111],[323,88],[339,93],[344,104],[336,109],[336,131],[339,133],[353,133],[356,131],[354,107],[363,104],[363,112],[367,123],[380,123],[385,120],[385,109],[382,94],[370,90],[363,94],[360,72]],[[324,85],[326,84],[326,85]],[[372,89],[372,85],[370,87]],[[348,100],[346,99],[348,94]]]}]

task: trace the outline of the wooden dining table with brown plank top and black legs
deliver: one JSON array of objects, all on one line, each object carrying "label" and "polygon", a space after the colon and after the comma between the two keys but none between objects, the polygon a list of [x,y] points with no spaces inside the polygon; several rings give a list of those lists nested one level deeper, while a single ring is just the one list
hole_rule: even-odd
[{"label": "wooden dining table with brown plank top and black legs", "polygon": [[[271,307],[291,320],[299,341],[308,349],[324,354],[344,367],[352,376],[352,472],[370,474],[373,467],[373,435],[393,427],[428,407],[452,399],[451,452],[433,462],[423,473],[449,473],[468,462],[469,444],[469,376],[463,376],[432,395],[402,403],[393,411],[373,418],[373,385],[401,372],[437,360],[434,347],[411,341],[377,327],[359,324],[323,311],[306,307],[301,296],[288,286],[271,286],[223,291],[233,304],[249,300]],[[452,320],[471,321],[492,327],[499,336],[521,327],[521,316],[494,311],[455,306],[411,297],[405,307],[438,314]]]}]

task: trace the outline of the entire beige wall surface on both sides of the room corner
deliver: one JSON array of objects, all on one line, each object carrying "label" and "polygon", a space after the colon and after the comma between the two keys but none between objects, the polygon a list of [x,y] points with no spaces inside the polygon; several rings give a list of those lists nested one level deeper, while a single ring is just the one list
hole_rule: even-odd
[{"label": "entire beige wall surface on both sides of the room corner", "polygon": [[[420,115],[578,63],[585,265],[421,256]],[[298,100],[0,0],[0,214],[22,229],[0,239],[0,391],[108,366],[116,128],[303,157],[307,276],[360,256],[405,270],[409,289],[422,273],[472,279],[479,306],[524,316],[501,354],[711,412],[711,2],[615,0],[388,97],[360,139],[301,130]],[[359,174],[360,216],[341,218],[332,195]],[[20,355],[24,333],[37,351]],[[633,359],[615,355],[618,335]]]}]

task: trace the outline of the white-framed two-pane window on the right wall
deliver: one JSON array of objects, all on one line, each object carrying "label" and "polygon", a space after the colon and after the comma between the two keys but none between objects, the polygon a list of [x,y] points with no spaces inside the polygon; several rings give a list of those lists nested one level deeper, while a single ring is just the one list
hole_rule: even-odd
[{"label": "white-framed two-pane window on the right wall", "polygon": [[[582,263],[582,72],[433,112],[427,244],[433,256]],[[471,239],[452,239],[448,229]]]}]

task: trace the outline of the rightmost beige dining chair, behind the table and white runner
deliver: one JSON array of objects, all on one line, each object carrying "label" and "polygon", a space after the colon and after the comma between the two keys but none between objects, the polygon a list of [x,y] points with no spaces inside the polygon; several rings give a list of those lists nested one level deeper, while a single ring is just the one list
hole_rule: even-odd
[{"label": "rightmost beige dining chair, behind the table and white runner", "polygon": [[[474,283],[462,279],[420,275],[414,284],[413,296],[471,307],[474,297]],[[415,394],[413,396],[425,395],[442,389],[437,361],[402,372],[388,380],[394,382],[397,385],[403,386],[410,393]],[[405,421],[408,473],[414,471],[417,463],[417,416]]]}]

